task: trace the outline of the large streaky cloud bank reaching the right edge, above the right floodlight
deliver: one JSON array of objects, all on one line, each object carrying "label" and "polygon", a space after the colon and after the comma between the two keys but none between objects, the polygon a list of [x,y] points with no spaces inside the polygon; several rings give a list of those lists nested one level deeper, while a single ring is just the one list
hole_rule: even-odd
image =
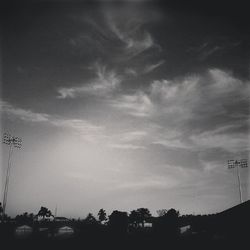
[{"label": "large streaky cloud bank reaching the right edge, above the right floodlight", "polygon": [[[155,80],[144,91],[117,96],[111,105],[159,125],[147,135],[148,143],[191,151],[217,147],[237,152],[249,148],[249,93],[249,82],[230,72],[209,69],[199,75]],[[168,137],[167,131],[175,133]]]}]

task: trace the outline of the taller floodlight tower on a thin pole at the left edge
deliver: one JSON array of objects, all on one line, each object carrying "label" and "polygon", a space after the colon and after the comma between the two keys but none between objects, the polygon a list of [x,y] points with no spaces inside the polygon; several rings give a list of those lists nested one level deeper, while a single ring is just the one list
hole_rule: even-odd
[{"label": "taller floodlight tower on a thin pole at the left edge", "polygon": [[11,168],[11,156],[13,153],[13,147],[21,148],[22,139],[19,137],[16,137],[16,136],[12,136],[9,133],[4,133],[3,143],[9,145],[8,168],[7,168],[7,173],[6,173],[6,180],[5,180],[5,186],[4,186],[4,196],[3,196],[3,218],[4,218],[6,203],[7,203],[10,168]]}]

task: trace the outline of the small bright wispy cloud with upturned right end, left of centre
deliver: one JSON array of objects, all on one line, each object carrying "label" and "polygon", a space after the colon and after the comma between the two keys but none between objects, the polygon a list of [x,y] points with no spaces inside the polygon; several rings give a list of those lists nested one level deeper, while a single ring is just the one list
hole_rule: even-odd
[{"label": "small bright wispy cloud with upturned right end, left of centre", "polygon": [[58,89],[59,99],[75,98],[84,94],[88,95],[108,95],[116,90],[122,81],[122,77],[114,70],[107,70],[106,66],[96,63],[94,66],[97,77],[92,81],[76,86],[61,87]]}]

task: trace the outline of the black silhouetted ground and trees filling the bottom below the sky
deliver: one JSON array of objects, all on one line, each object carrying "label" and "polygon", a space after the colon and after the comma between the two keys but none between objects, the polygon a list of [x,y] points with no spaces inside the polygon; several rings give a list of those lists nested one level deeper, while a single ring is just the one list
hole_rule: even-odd
[{"label": "black silhouetted ground and trees filling the bottom below the sky", "polygon": [[[178,210],[171,208],[158,210],[157,216],[152,216],[149,209],[138,208],[130,212],[115,210],[109,215],[100,209],[96,215],[88,213],[83,219],[67,219],[54,217],[42,206],[37,214],[23,213],[15,218],[1,216],[0,237],[13,244],[13,249],[17,249],[16,242],[19,249],[22,244],[24,249],[221,250],[230,249],[235,243],[239,247],[238,242],[243,244],[247,239],[247,231],[242,225],[242,222],[247,225],[247,220],[239,221],[238,218],[249,218],[248,212],[237,210],[225,215],[180,215]],[[33,230],[28,241],[14,237],[14,231],[22,225]],[[74,233],[72,237],[58,241],[56,233],[65,226],[72,228]]]}]

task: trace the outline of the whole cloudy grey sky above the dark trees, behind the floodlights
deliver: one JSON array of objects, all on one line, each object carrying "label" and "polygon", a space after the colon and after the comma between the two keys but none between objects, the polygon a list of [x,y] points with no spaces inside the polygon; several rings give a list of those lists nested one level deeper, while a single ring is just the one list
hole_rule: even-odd
[{"label": "whole cloudy grey sky above the dark trees, behind the floodlights", "polygon": [[[5,7],[1,130],[23,140],[12,157],[10,215],[42,205],[71,217],[102,207],[198,214],[239,202],[227,160],[248,159],[250,149],[244,6]],[[240,170],[244,200],[248,171]]]}]

